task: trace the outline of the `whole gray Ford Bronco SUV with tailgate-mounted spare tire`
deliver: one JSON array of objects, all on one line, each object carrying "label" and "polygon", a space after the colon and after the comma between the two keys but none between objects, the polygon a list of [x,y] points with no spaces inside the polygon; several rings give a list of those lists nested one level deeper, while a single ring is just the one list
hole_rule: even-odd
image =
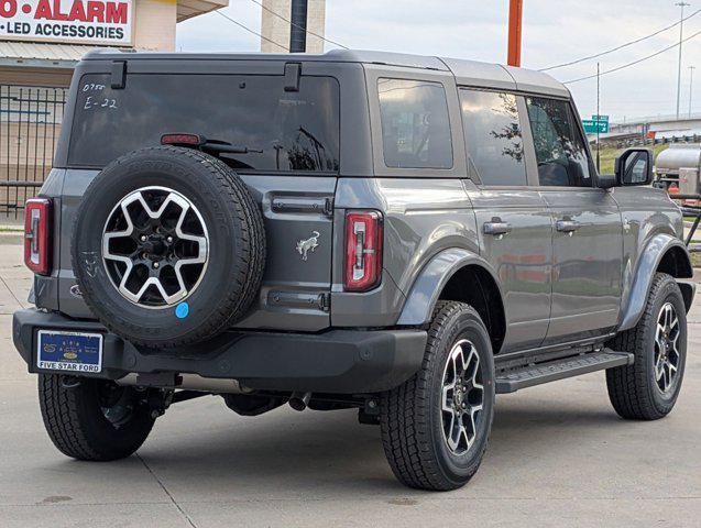
[{"label": "whole gray Ford Bronco SUV with tailgate-mounted spare tire", "polygon": [[667,415],[694,288],[649,151],[596,174],[547,75],[438,57],[94,52],[26,205],[13,338],[48,436],[133,453],[178,402],[355,408],[452,490],[496,394],[605,371]]}]

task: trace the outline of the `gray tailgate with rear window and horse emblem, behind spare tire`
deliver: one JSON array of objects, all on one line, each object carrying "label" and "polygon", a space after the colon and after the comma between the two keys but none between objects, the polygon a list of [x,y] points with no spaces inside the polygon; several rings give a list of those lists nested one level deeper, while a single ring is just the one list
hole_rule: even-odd
[{"label": "gray tailgate with rear window and horse emblem, behind spare tire", "polygon": [[248,150],[220,157],[241,175],[265,219],[263,288],[238,326],[309,331],[329,326],[339,168],[335,78],[134,73],[120,85],[113,74],[100,73],[83,75],[73,90],[67,169],[56,196],[61,311],[90,317],[76,294],[69,251],[75,213],[89,183],[120,155],[158,145],[163,134],[193,133]]}]

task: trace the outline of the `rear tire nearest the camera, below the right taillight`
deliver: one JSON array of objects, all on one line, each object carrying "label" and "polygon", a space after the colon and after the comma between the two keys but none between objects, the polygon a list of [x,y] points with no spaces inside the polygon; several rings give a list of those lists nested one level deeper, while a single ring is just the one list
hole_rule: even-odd
[{"label": "rear tire nearest the camera, below the right taillight", "polygon": [[[459,437],[461,443],[453,449],[445,432],[456,431],[447,427],[453,415],[442,410],[442,399],[445,382],[454,381],[449,359],[458,348],[463,358],[472,358],[468,351],[474,350],[479,369],[468,362],[468,371],[479,372],[472,380],[481,382],[483,388],[482,410],[474,414],[477,427],[472,431],[472,442],[467,444],[465,438]],[[464,386],[469,385],[465,383]],[[446,394],[452,395],[448,398],[450,405],[460,403],[454,388]],[[479,392],[468,388],[464,394],[463,403],[478,404],[479,397],[474,399],[474,396],[479,396]],[[463,415],[468,437],[471,429],[469,414]],[[493,416],[494,359],[486,328],[472,307],[439,301],[428,329],[421,369],[398,387],[383,393],[381,398],[382,442],[394,475],[403,484],[419,490],[448,491],[464,485],[480,466]],[[452,432],[449,436],[453,440],[458,438]]]}]

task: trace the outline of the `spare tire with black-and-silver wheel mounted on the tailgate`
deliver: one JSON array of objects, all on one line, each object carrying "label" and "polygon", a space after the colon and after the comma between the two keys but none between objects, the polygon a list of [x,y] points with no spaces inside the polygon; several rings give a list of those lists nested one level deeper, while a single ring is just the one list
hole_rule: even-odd
[{"label": "spare tire with black-and-silver wheel mounted on the tailgate", "polygon": [[88,186],[72,258],[86,304],[110,331],[134,344],[183,346],[247,314],[263,277],[263,218],[222,161],[143,148]]}]

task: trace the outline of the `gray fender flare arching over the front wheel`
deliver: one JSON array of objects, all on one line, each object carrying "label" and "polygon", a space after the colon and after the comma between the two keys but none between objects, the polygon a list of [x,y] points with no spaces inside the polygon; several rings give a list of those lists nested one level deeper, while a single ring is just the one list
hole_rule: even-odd
[{"label": "gray fender flare arching over the front wheel", "polygon": [[[683,273],[684,276],[676,278],[691,278],[693,275],[689,251],[681,240],[667,233],[658,233],[653,237],[638,258],[637,270],[627,296],[627,304],[621,310],[618,331],[628,330],[637,324],[643,310],[645,310],[655,272],[667,252],[672,248],[681,249],[688,263],[688,271]],[[689,308],[693,298],[693,285],[690,283],[679,283],[679,285],[682,288],[684,304]],[[686,292],[684,288],[690,289],[690,292]]]}]

